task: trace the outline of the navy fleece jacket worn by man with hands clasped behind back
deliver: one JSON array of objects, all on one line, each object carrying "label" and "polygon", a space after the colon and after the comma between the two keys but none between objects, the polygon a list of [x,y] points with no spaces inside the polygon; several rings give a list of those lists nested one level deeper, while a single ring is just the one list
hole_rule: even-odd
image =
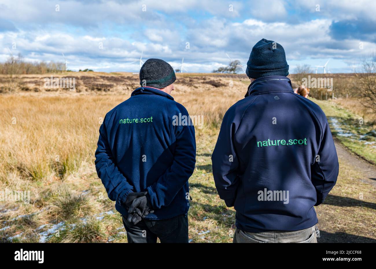
[{"label": "navy fleece jacket worn by man with hands clasped behind back", "polygon": [[[147,191],[154,213],[169,219],[188,212],[188,179],[196,163],[193,125],[177,125],[184,106],[152,87],[137,88],[106,114],[99,129],[96,169],[108,197],[125,217],[131,192]],[[177,122],[175,120],[175,122]]]}]

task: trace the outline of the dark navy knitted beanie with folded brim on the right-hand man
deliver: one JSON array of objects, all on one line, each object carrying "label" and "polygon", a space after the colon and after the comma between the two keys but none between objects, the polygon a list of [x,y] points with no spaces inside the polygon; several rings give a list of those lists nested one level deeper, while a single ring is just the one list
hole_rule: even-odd
[{"label": "dark navy knitted beanie with folded brim on the right-hand man", "polygon": [[266,76],[288,76],[288,64],[283,47],[274,41],[262,38],[252,48],[246,74],[252,79]]}]

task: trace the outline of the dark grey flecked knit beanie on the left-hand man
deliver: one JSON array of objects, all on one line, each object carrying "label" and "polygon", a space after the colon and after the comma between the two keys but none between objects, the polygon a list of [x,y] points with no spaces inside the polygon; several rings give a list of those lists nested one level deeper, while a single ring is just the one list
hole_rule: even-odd
[{"label": "dark grey flecked knit beanie on the left-hand man", "polygon": [[161,59],[147,60],[140,70],[141,87],[162,89],[176,80],[174,69]]}]

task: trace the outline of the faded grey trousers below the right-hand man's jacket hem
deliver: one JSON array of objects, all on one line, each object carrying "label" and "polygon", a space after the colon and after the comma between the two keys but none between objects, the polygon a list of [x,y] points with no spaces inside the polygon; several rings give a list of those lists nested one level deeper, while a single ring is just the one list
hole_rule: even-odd
[{"label": "faded grey trousers below the right-hand man's jacket hem", "polygon": [[271,231],[263,233],[248,233],[235,230],[233,243],[317,243],[320,231],[313,226],[300,231]]}]

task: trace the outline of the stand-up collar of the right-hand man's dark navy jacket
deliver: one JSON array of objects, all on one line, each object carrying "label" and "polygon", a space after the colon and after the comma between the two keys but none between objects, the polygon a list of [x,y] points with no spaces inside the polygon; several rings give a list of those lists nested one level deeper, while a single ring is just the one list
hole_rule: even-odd
[{"label": "stand-up collar of the right-hand man's dark navy jacket", "polygon": [[244,97],[253,94],[274,92],[294,92],[291,81],[285,76],[267,76],[254,80],[249,86]]}]

